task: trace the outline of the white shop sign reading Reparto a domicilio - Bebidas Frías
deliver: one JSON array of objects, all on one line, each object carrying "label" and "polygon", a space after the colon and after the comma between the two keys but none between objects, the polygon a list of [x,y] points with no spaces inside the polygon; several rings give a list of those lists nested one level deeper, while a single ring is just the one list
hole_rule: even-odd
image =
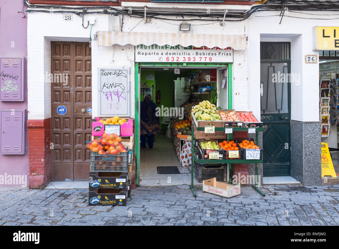
[{"label": "white shop sign reading Reparto a domicilio - Bebidas Fr\u00edas", "polygon": [[135,46],[137,62],[233,62],[233,49],[156,44]]}]

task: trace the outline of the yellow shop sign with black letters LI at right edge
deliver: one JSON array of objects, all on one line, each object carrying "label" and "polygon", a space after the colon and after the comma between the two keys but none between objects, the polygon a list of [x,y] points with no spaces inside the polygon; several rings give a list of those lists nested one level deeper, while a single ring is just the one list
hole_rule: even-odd
[{"label": "yellow shop sign with black letters LI at right edge", "polygon": [[339,50],[339,27],[313,27],[313,50]]}]

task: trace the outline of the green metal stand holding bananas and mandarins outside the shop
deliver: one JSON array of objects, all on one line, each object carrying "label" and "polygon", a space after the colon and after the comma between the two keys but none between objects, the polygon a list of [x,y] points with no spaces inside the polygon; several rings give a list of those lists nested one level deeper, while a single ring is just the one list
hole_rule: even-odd
[{"label": "green metal stand holding bananas and mandarins outside the shop", "polygon": [[[192,114],[193,115],[193,114]],[[204,131],[205,131],[205,127],[198,127],[198,125],[194,122],[194,120],[192,121],[192,144],[194,144],[194,139],[197,139],[196,138],[196,135],[194,134],[194,129],[197,131],[200,132],[200,134]],[[252,128],[252,129],[255,129],[255,132],[256,132],[256,143],[258,143],[259,141],[259,135],[258,135],[258,132],[259,131],[263,131],[263,128]],[[214,130],[215,131],[223,131],[226,133],[226,130],[225,130],[225,127],[214,127]],[[233,132],[234,131],[247,131],[248,132],[248,128],[246,127],[233,127],[232,128],[232,133],[228,133],[228,140],[232,140],[233,139]],[[234,163],[246,163],[246,164],[255,164],[256,165],[256,178],[255,179],[258,179],[258,164],[259,163],[262,163],[263,160],[256,160],[256,159],[251,159],[251,160],[246,160],[246,159],[238,159],[238,160],[232,160],[232,159],[198,159],[198,155],[199,154],[199,150],[196,150],[194,149],[194,147],[192,147],[192,168],[191,168],[191,191],[193,193],[193,196],[194,197],[197,197],[197,194],[195,193],[194,189],[193,189],[193,179],[194,179],[194,170],[193,170],[193,162],[196,161],[196,163],[198,164],[205,164],[205,163],[221,163],[221,164],[228,164],[230,165],[229,168],[232,168],[233,164]],[[227,171],[227,175],[228,175],[228,178],[229,178],[229,172],[230,170]],[[258,188],[258,182],[256,181],[255,184],[252,184],[252,187],[258,192],[260,193],[262,196],[265,196],[265,194]]]}]

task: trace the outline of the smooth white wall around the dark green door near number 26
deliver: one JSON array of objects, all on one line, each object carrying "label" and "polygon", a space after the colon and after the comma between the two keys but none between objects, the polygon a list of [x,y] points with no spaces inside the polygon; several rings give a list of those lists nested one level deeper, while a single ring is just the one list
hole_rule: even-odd
[{"label": "smooth white wall around the dark green door near number 26", "polygon": [[[333,18],[335,12],[304,12],[324,14],[317,18]],[[288,16],[314,18],[315,16],[290,12],[279,25],[280,11],[261,11],[247,19],[248,44],[248,101],[253,104],[255,116],[260,116],[260,41],[291,42],[291,73],[301,76],[300,85],[291,85],[291,118],[299,121],[319,121],[319,60],[306,64],[305,55],[319,55],[313,51],[312,27],[334,26],[333,20],[296,19]],[[266,16],[266,17],[261,17]],[[297,22],[297,25],[296,25]]]}]

